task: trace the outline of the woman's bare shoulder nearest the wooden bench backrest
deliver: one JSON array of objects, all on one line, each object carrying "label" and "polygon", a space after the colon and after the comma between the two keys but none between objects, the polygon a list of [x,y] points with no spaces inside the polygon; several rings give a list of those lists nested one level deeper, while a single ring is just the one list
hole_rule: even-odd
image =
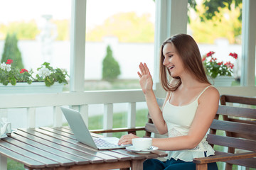
[{"label": "woman's bare shoulder nearest the wooden bench backrest", "polygon": [[203,94],[198,98],[198,102],[201,103],[210,103],[210,102],[217,102],[220,99],[220,93],[218,89],[214,86],[210,86],[203,92]]}]

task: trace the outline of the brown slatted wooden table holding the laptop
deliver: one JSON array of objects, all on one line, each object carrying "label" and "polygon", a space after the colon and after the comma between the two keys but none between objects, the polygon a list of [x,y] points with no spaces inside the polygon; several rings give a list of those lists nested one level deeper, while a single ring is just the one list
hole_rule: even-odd
[{"label": "brown slatted wooden table holding the laptop", "polygon": [[131,167],[141,170],[144,160],[166,157],[165,152],[158,150],[149,154],[137,154],[126,149],[99,151],[75,140],[68,127],[20,128],[0,140],[0,154],[1,158],[8,157],[21,162],[26,169],[95,170]]}]

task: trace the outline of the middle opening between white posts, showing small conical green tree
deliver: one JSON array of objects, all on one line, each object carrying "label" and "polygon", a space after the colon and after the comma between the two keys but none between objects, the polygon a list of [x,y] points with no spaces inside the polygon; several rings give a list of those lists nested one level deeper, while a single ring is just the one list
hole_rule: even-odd
[{"label": "middle opening between white posts, showing small conical green tree", "polygon": [[87,0],[85,90],[140,89],[139,62],[154,72],[154,12],[152,0]]}]

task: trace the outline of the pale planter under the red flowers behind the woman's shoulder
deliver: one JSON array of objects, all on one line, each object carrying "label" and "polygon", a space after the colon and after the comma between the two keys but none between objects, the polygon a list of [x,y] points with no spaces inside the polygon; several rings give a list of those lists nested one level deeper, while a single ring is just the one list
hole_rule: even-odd
[{"label": "pale planter under the red flowers behind the woman's shoulder", "polygon": [[215,79],[208,77],[208,80],[213,86],[231,86],[232,82],[235,81],[233,77],[228,76],[220,76]]}]

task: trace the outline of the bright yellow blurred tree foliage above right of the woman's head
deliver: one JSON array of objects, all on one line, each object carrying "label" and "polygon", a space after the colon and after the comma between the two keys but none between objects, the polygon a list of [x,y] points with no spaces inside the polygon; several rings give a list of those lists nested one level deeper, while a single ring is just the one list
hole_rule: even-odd
[{"label": "bright yellow blurred tree foliage above right of the woman's head", "polygon": [[[198,8],[198,15],[203,10],[203,6]],[[225,17],[222,16],[225,13]],[[220,13],[211,20],[201,21],[200,17],[192,18],[189,26],[192,30],[196,42],[214,43],[216,38],[227,38],[230,44],[240,43],[240,35],[242,23],[238,16],[240,11],[238,8],[229,11],[228,8],[220,9]],[[221,18],[221,19],[220,19]]]}]

